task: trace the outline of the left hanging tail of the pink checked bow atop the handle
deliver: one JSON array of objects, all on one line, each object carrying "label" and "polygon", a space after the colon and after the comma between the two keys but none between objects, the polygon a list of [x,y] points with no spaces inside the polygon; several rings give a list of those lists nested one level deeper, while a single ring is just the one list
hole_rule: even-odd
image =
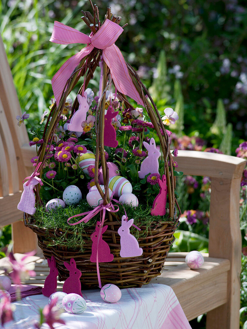
[{"label": "left hanging tail of the pink checked bow atop the handle", "polygon": [[93,50],[93,45],[84,47],[79,53],[70,57],[65,63],[62,64],[58,72],[54,75],[51,80],[52,90],[57,102],[57,106],[59,105],[60,99],[62,97],[62,91],[67,84],[68,78],[73,73],[76,66],[81,62],[81,60],[90,54]]}]

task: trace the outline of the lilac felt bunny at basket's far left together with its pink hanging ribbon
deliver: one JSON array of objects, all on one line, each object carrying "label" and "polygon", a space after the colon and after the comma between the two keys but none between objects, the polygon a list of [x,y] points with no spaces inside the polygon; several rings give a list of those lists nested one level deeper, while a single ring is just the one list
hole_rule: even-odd
[{"label": "lilac felt bunny at basket's far left together with its pink hanging ribbon", "polygon": [[[35,194],[34,194],[34,187],[38,183],[43,185],[41,178],[37,177],[39,175],[38,169],[41,166],[42,162],[37,164],[35,171],[32,173],[31,176],[26,177],[28,179],[27,182],[23,184],[23,192],[21,194],[20,202],[18,203],[17,209],[23,211],[23,213],[27,213],[29,215],[34,215],[36,212],[35,209]],[[25,181],[23,180],[23,182]]]}]

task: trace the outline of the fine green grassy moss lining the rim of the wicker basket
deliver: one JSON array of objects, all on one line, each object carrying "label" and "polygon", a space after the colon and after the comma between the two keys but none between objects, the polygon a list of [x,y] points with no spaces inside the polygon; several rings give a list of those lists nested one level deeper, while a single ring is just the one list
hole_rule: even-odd
[{"label": "fine green grassy moss lining the rim of the wicker basket", "polygon": [[[169,214],[164,217],[150,215],[151,207],[149,205],[139,204],[136,208],[133,208],[129,205],[125,205],[123,208],[121,204],[118,206],[119,211],[117,214],[120,218],[125,214],[125,208],[128,218],[134,218],[135,225],[138,227],[145,226],[145,229],[143,230],[142,228],[141,231],[132,226],[131,233],[136,238],[145,238],[148,236],[151,233],[150,227],[153,223],[162,224],[163,222],[170,220]],[[91,218],[87,223],[82,222],[77,225],[69,225],[67,219],[73,215],[81,214],[91,210],[92,208],[89,207],[86,200],[81,200],[81,202],[77,205],[67,206],[66,208],[59,207],[53,209],[51,212],[46,212],[43,207],[38,207],[34,215],[35,224],[40,228],[51,230],[60,228],[63,231],[60,236],[55,235],[53,240],[47,240],[48,246],[63,245],[72,250],[80,248],[83,251],[83,246],[86,241],[85,234],[89,228],[95,228],[96,221],[100,220],[100,213]],[[72,218],[70,223],[75,223],[80,219],[82,219],[82,216]]]}]

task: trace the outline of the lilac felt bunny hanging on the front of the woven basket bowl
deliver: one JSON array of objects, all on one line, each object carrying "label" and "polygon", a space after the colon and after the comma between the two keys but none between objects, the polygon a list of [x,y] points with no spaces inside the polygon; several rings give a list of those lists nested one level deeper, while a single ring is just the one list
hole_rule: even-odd
[{"label": "lilac felt bunny hanging on the front of the woven basket bowl", "polygon": [[122,216],[122,225],[117,230],[120,235],[120,256],[121,257],[137,257],[143,253],[142,248],[139,247],[136,238],[130,234],[130,227],[132,226],[134,219],[126,221],[126,216]]}]

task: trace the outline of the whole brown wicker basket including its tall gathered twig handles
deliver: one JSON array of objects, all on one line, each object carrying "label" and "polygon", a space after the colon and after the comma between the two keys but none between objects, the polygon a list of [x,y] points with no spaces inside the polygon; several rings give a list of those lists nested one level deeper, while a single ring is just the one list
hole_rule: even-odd
[{"label": "whole brown wicker basket including its tall gathered twig handles", "polygon": [[[94,6],[94,22],[97,23],[98,9]],[[91,17],[88,12],[84,13],[84,21],[88,19],[90,21]],[[119,24],[120,19],[115,18],[115,15],[112,15],[109,8],[108,14],[106,15],[109,19],[113,20]],[[88,23],[87,21],[87,23]],[[88,26],[90,24],[87,24]],[[92,24],[90,25],[90,27]],[[94,27],[91,27],[92,32],[95,32]],[[62,114],[64,103],[69,92],[74,88],[75,84],[78,82],[79,78],[83,75],[85,77],[85,88],[88,85],[89,80],[93,77],[93,72],[96,67],[99,65],[99,59],[102,54],[102,50],[94,48],[91,54],[84,58],[81,63],[75,68],[70,79],[67,81],[67,87],[64,90],[59,106],[56,107],[54,104],[51,112],[49,114],[43,139],[44,143],[42,148],[39,149],[39,159],[38,162],[42,162],[42,165],[45,163],[45,151],[47,145],[52,142],[52,137],[56,128],[56,125],[59,121],[59,118]],[[87,61],[86,61],[87,60]],[[85,62],[86,61],[86,62]],[[164,174],[167,179],[167,190],[168,190],[168,200],[169,200],[169,217],[172,219],[170,221],[157,221],[153,222],[149,228],[149,235],[145,238],[138,239],[139,246],[143,249],[142,256],[133,257],[131,259],[121,258],[120,253],[120,236],[117,233],[118,228],[120,227],[121,220],[119,219],[118,214],[107,214],[105,218],[104,225],[108,225],[108,230],[104,233],[104,240],[108,243],[111,253],[114,255],[114,259],[110,263],[100,263],[99,271],[102,284],[113,283],[122,288],[127,287],[141,287],[143,284],[147,284],[152,278],[158,276],[162,272],[162,266],[165,262],[171,244],[174,240],[173,234],[176,227],[178,226],[178,220],[180,217],[180,209],[175,198],[175,178],[173,176],[173,170],[169,170],[168,161],[172,163],[172,157],[169,149],[169,138],[167,132],[162,124],[160,114],[157,110],[156,105],[154,104],[151,96],[148,93],[148,90],[144,87],[140,81],[136,71],[128,64],[127,68],[130,74],[130,77],[133,81],[133,84],[138,91],[141,99],[145,104],[145,110],[149,115],[151,122],[154,125],[156,133],[160,139],[161,149],[164,155]],[[87,73],[86,73],[87,72]],[[95,159],[95,185],[99,192],[102,195],[104,204],[109,202],[108,197],[108,184],[109,184],[109,173],[106,166],[106,161],[104,157],[104,111],[105,111],[105,92],[109,88],[109,69],[106,63],[103,63],[103,82],[102,82],[102,91],[103,97],[99,102],[97,113],[96,113],[96,135],[97,135],[97,146],[96,146],[96,159]],[[79,90],[79,93],[82,93],[82,87]],[[128,102],[126,96],[119,92],[120,96],[125,102],[127,107],[133,106]],[[145,94],[148,95],[150,102],[145,97]],[[78,109],[78,101],[75,99],[72,109]],[[48,125],[49,119],[51,121]],[[50,142],[51,140],[51,142]],[[98,165],[99,165],[99,155],[101,156],[103,176],[105,182],[105,194],[99,186],[97,181],[98,174]],[[40,175],[42,174],[42,170]],[[39,205],[42,205],[42,200],[39,196],[39,190],[36,189],[36,200]],[[176,215],[174,215],[174,213]],[[68,250],[66,245],[56,245],[51,246],[54,240],[54,237],[61,236],[63,232],[60,228],[57,228],[55,231],[50,229],[43,229],[36,225],[35,219],[27,214],[24,214],[25,225],[30,227],[38,237],[38,245],[42,249],[44,257],[50,258],[52,255],[55,257],[57,262],[57,267],[59,271],[59,280],[64,280],[68,277],[68,270],[63,265],[64,261],[68,261],[70,258],[74,258],[76,261],[77,268],[82,271],[81,283],[82,287],[85,289],[95,288],[98,286],[98,278],[96,271],[96,264],[90,262],[91,247],[92,241],[90,240],[90,235],[94,232],[94,226],[91,229],[88,229],[87,234],[83,236],[85,238],[84,243],[84,252],[80,250],[80,245],[78,249]],[[136,223],[138,225],[138,223]],[[139,225],[138,225],[139,226]],[[146,227],[139,226],[141,230],[145,230]],[[67,232],[67,231],[66,231]],[[67,235],[73,234],[69,231]]]}]

